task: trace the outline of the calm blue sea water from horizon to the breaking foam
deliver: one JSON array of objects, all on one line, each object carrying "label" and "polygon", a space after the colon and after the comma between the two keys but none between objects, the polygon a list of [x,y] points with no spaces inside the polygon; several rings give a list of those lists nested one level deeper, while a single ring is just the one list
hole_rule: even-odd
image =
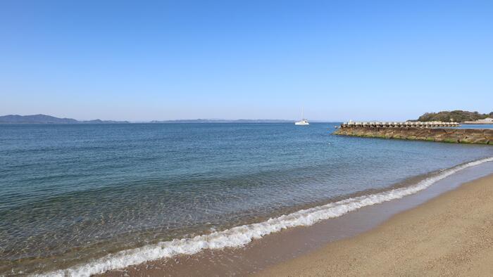
[{"label": "calm blue sea water from horizon to the breaking foam", "polygon": [[0,126],[0,275],[265,221],[492,157],[331,123]]}]

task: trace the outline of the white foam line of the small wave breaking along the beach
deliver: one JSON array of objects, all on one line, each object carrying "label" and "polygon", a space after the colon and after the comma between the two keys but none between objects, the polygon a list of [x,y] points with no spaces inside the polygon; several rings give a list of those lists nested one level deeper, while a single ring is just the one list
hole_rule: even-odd
[{"label": "white foam line of the small wave breaking along the beach", "polygon": [[311,209],[299,210],[292,214],[269,219],[261,223],[237,226],[225,231],[218,231],[194,238],[183,238],[180,240],[164,241],[154,245],[146,245],[132,250],[123,250],[115,254],[106,255],[100,259],[95,259],[87,264],[74,266],[70,269],[61,269],[41,276],[89,276],[94,273],[104,273],[111,269],[122,269],[126,266],[141,264],[143,262],[156,259],[173,257],[175,255],[192,255],[206,249],[220,249],[224,247],[242,247],[251,240],[262,238],[270,233],[281,231],[285,228],[296,226],[310,226],[323,219],[340,217],[342,214],[358,210],[361,207],[375,205],[402,198],[406,195],[417,193],[428,188],[433,183],[444,179],[455,172],[484,162],[493,162],[493,157],[488,157],[474,162],[468,162],[451,169],[446,169],[435,176],[423,179],[412,186],[405,188],[395,188],[382,193],[363,195],[349,198],[327,205],[313,207]]}]

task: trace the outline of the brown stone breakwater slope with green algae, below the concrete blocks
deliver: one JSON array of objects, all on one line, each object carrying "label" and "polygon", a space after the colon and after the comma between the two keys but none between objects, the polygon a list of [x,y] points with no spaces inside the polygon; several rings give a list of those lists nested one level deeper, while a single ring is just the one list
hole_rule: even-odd
[{"label": "brown stone breakwater slope with green algae, below the concrete blocks", "polygon": [[334,134],[367,138],[493,145],[493,129],[344,127],[337,129]]}]

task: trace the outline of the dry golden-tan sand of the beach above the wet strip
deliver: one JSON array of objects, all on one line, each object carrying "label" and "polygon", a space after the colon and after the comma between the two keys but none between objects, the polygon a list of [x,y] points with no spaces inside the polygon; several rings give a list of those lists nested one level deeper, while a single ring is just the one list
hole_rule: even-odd
[{"label": "dry golden-tan sand of the beach above the wet strip", "polygon": [[492,276],[493,175],[258,276]]}]

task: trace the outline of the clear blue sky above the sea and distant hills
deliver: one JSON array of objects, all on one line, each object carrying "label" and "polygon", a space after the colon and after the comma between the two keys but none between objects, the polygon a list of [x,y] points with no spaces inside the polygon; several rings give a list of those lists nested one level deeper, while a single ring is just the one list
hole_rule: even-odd
[{"label": "clear blue sky above the sea and distant hills", "polygon": [[[398,3],[400,2],[400,3]],[[0,1],[0,114],[493,111],[493,1]]]}]

